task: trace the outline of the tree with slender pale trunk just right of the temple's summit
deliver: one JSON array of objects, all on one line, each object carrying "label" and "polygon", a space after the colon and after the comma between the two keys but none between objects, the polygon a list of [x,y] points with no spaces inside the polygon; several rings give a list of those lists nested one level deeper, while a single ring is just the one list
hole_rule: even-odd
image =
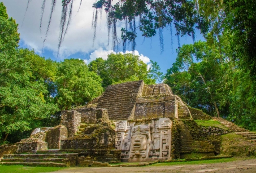
[{"label": "tree with slender pale trunk just right of the temple's summit", "polygon": [[230,72],[232,62],[219,54],[218,46],[201,41],[184,45],[177,52],[176,62],[168,69],[164,82],[190,106],[211,115],[227,117],[229,110],[225,107],[229,100],[228,91],[232,88],[227,72]]}]

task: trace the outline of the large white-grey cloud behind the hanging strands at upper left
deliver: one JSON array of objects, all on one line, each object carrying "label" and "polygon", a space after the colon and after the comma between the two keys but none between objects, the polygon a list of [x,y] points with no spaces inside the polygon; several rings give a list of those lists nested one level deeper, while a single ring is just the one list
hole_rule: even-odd
[{"label": "large white-grey cloud behind the hanging strands at upper left", "polygon": [[[25,15],[27,1],[20,0],[3,0],[4,5],[7,7],[9,16],[16,20],[19,24],[20,38],[29,48],[41,54],[43,52],[43,41],[45,38],[46,28],[49,20],[51,1],[46,1],[44,17],[42,20],[42,28],[40,32],[40,18],[41,18],[41,5],[42,0],[30,1],[28,11]],[[102,17],[98,17],[97,35],[93,44],[93,29],[92,18],[94,0],[86,0],[82,2],[80,11],[77,13],[80,1],[73,2],[72,21],[68,33],[62,43],[59,52],[60,60],[81,52],[88,54],[94,50],[99,50],[101,47],[107,49],[108,33],[106,24],[106,13],[102,11]],[[44,45],[45,50],[53,51],[57,55],[58,38],[59,38],[59,24],[60,15],[62,11],[62,0],[57,0],[53,18],[51,19],[50,30],[47,40]],[[98,13],[99,14],[99,13]],[[23,21],[24,18],[24,21]],[[101,18],[101,19],[100,19]],[[22,24],[23,23],[23,24]],[[120,26],[116,29],[120,36]],[[111,44],[110,44],[111,47]]]}]

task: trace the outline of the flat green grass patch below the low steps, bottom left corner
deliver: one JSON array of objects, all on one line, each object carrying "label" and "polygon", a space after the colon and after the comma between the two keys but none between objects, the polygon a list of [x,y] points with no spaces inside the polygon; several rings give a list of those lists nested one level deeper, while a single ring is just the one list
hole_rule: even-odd
[{"label": "flat green grass patch below the low steps, bottom left corner", "polygon": [[32,167],[22,165],[0,165],[1,173],[37,173],[37,172],[53,172],[62,170],[63,167]]}]

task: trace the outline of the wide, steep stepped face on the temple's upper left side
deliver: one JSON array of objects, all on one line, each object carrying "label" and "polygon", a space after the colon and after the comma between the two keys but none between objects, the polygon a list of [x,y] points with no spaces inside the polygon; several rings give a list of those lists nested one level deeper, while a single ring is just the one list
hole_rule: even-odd
[{"label": "wide, steep stepped face on the temple's upper left side", "polygon": [[109,119],[128,119],[136,103],[136,97],[143,81],[110,85],[99,98],[97,108],[105,108]]}]

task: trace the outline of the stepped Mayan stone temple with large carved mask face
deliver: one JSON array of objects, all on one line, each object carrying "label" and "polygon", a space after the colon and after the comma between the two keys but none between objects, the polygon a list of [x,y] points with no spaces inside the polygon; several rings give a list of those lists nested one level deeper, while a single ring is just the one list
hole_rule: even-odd
[{"label": "stepped Mayan stone temple with large carved mask face", "polygon": [[[211,157],[220,154],[214,136],[229,132],[204,130],[194,119],[212,117],[189,108],[168,85],[145,85],[144,81],[111,85],[88,105],[64,110],[61,117],[56,127],[36,128],[28,139],[2,145],[1,162],[106,166],[192,158],[195,153]],[[246,132],[235,125],[232,130]]]}]

